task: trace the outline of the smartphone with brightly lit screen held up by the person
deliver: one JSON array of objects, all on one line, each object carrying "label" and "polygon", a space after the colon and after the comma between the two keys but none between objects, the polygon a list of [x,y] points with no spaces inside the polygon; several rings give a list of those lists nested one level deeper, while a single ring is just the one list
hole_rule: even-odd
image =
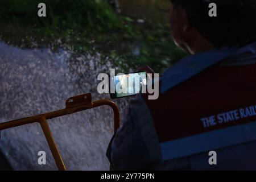
[{"label": "smartphone with brightly lit screen held up by the person", "polygon": [[112,99],[142,93],[142,89],[146,89],[146,86],[146,72],[118,74],[109,77],[109,93]]}]

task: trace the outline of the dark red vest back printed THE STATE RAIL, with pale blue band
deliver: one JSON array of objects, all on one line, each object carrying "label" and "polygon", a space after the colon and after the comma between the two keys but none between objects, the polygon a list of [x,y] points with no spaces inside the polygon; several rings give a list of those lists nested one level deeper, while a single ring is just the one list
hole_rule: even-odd
[{"label": "dark red vest back printed THE STATE RAIL, with pale blue band", "polygon": [[256,140],[255,93],[256,64],[217,64],[160,94],[158,100],[144,97],[163,160]]}]

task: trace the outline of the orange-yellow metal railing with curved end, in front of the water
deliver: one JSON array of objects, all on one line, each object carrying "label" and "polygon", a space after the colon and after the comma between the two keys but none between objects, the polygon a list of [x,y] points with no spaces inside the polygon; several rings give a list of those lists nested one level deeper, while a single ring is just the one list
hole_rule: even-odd
[{"label": "orange-yellow metal railing with curved end, in front of the water", "polygon": [[119,110],[117,105],[115,105],[115,103],[110,100],[98,100],[98,101],[92,102],[92,96],[90,93],[68,98],[68,100],[66,101],[65,109],[0,123],[0,131],[9,129],[11,127],[39,122],[58,169],[65,171],[66,170],[65,164],[63,162],[63,159],[61,158],[59,149],[57,148],[57,144],[55,142],[55,139],[53,138],[51,129],[49,128],[49,125],[47,123],[47,119],[52,119],[52,118],[60,117],[67,114],[73,114],[82,110],[92,109],[94,107],[103,106],[103,105],[108,105],[113,109],[114,133],[115,133],[120,126],[120,115],[119,115]]}]

